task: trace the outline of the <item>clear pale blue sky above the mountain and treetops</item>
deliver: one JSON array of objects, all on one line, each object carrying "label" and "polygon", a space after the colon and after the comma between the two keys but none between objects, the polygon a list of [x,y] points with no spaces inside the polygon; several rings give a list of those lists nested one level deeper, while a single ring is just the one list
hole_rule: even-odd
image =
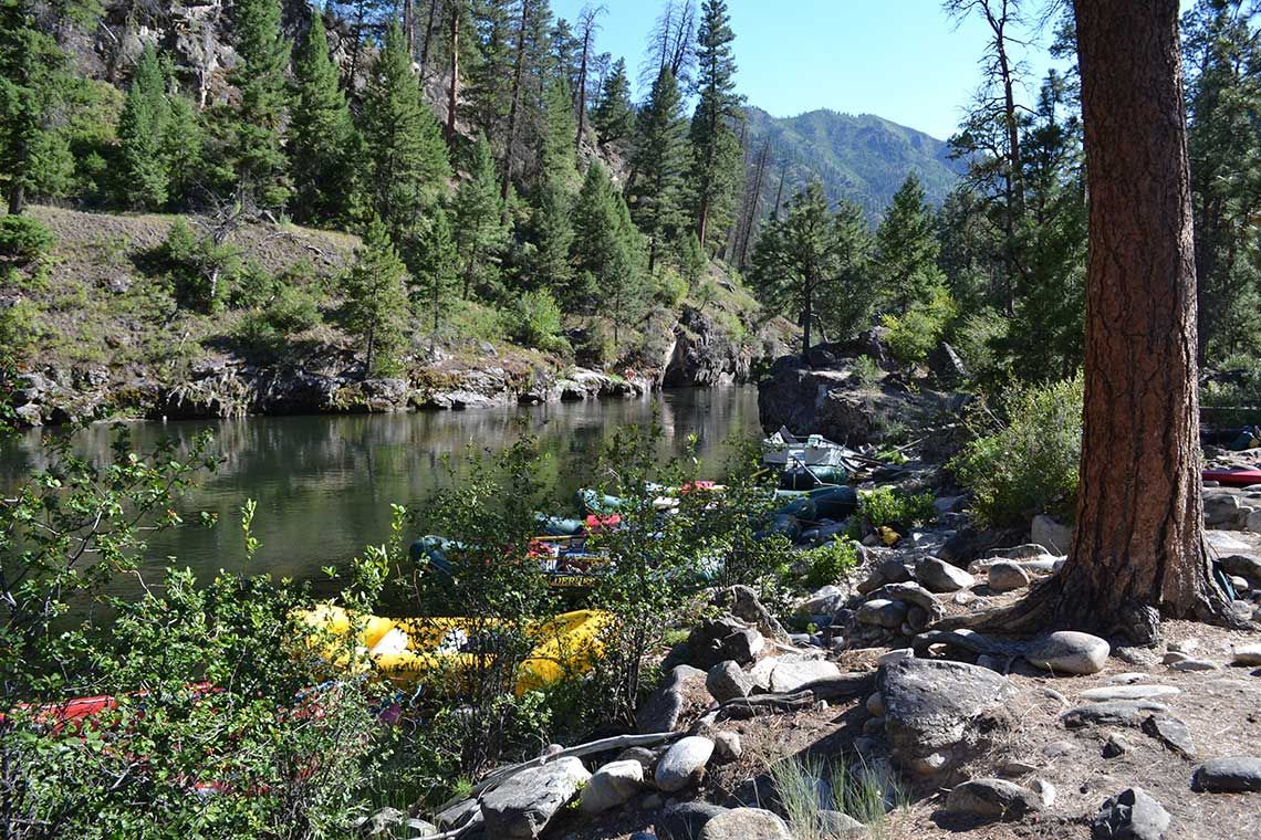
[{"label": "clear pale blue sky above the mountain and treetops", "polygon": [[[574,20],[588,1],[599,5],[552,0],[552,9]],[[596,49],[624,55],[636,78],[662,3],[604,5]],[[739,91],[776,116],[815,108],[875,113],[944,140],[981,81],[987,29],[975,19],[956,28],[939,0],[728,0],[728,8]],[[1052,65],[1049,38],[1045,33],[1021,50],[1029,68],[1026,102]]]}]

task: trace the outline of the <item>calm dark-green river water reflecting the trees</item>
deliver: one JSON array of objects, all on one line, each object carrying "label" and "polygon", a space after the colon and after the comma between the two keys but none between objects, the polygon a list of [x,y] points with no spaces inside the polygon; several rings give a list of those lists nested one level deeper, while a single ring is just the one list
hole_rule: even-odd
[{"label": "calm dark-green river water reflecting the trees", "polygon": [[[467,412],[135,423],[130,429],[136,451],[148,451],[161,438],[188,442],[209,429],[222,458],[218,470],[180,502],[188,524],[150,535],[140,569],[148,582],[160,579],[171,564],[187,565],[198,577],[240,569],[245,559],[240,511],[246,499],[253,499],[253,533],[262,543],[255,570],[311,581],[325,589],[323,567],[344,567],[364,545],[388,536],[392,502],[415,509],[449,482],[448,457],[459,460],[469,446],[501,450],[527,432],[547,456],[543,479],[555,500],[550,513],[569,514],[574,490],[596,477],[600,451],[617,429],[647,423],[654,411],[665,431],[660,456],[682,453],[695,434],[706,477],[721,474],[733,441],[760,433],[753,388]],[[77,443],[103,461],[111,440],[110,427],[98,424],[81,432]],[[11,490],[44,465],[39,431],[0,445],[0,489]],[[198,526],[200,511],[216,514],[218,525]],[[111,589],[134,597],[139,587],[125,578]]]}]

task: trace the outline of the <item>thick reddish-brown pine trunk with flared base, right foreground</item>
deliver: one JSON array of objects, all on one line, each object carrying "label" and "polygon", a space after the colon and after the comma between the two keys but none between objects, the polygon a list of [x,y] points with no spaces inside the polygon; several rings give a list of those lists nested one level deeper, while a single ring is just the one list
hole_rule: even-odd
[{"label": "thick reddish-brown pine trunk with flared base, right foreground", "polygon": [[1063,569],[966,623],[1156,640],[1238,625],[1203,531],[1195,268],[1178,0],[1076,0],[1090,266],[1077,528]]}]

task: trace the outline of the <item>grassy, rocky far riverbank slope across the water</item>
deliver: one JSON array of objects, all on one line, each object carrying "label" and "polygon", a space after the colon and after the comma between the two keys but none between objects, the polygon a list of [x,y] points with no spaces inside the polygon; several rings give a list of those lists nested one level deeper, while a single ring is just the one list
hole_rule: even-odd
[{"label": "grassy, rocky far riverbank slope across the water", "polygon": [[[14,407],[29,426],[628,399],[747,383],[793,338],[782,319],[759,322],[748,293],[714,268],[709,300],[653,310],[612,361],[513,344],[502,314],[460,304],[436,336],[416,325],[395,377],[364,378],[362,348],[337,319],[337,278],[353,237],[270,224],[232,234],[251,271],[288,277],[313,312],[308,326],[260,348],[248,307],[198,314],[177,305],[158,257],[173,218],[57,208],[33,215],[57,246],[21,285],[0,292],[0,306],[28,319],[29,344],[10,350],[20,372]],[[565,338],[580,346],[598,327],[576,319]]]}]

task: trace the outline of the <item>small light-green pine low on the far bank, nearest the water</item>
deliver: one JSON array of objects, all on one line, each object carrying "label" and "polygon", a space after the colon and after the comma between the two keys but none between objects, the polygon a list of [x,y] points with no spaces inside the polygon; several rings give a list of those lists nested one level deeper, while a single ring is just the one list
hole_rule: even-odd
[{"label": "small light-green pine low on the far bank, nearest the water", "polygon": [[398,368],[407,314],[407,268],[383,223],[373,219],[347,272],[342,321],[363,341],[364,378],[383,377]]}]

